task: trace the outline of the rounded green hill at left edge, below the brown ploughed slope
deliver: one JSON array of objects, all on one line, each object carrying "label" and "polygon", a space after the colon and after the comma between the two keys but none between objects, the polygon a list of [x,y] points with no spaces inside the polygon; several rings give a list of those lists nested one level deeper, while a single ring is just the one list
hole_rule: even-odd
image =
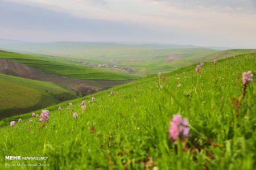
[{"label": "rounded green hill at left edge, below the brown ploughed slope", "polygon": [[0,118],[44,108],[75,96],[53,83],[0,74]]}]

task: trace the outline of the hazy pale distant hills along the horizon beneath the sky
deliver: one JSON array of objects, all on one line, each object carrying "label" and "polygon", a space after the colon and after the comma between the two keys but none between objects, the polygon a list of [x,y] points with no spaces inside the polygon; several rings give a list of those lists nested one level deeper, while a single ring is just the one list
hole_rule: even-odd
[{"label": "hazy pale distant hills along the horizon beneath the sky", "polygon": [[[0,39],[0,49],[11,50],[22,53],[40,53],[48,54],[58,52],[59,50],[69,49],[109,49],[109,48],[142,48],[142,49],[188,49],[202,48],[195,45],[176,45],[176,44],[160,44],[157,42],[126,42],[126,41],[94,41],[94,42],[28,42],[20,40]],[[208,49],[226,50],[232,49],[228,47],[203,47]]]}]

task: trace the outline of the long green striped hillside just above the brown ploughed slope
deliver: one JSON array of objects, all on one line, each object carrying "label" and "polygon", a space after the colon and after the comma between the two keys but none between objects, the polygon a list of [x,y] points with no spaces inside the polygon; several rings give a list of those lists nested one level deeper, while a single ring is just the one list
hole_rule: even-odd
[{"label": "long green striped hillside just above the brown ploughed slope", "polygon": [[137,75],[127,74],[123,71],[114,69],[96,69],[94,67],[67,61],[67,59],[61,57],[0,52],[0,58],[9,59],[10,61],[23,63],[24,65],[34,67],[35,69],[72,78],[96,80],[129,80],[139,78]]}]

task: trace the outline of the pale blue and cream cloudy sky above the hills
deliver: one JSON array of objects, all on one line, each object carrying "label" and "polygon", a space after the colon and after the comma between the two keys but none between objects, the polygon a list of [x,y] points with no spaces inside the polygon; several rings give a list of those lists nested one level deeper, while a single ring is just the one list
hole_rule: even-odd
[{"label": "pale blue and cream cloudy sky above the hills", "polygon": [[256,0],[0,0],[0,39],[256,48]]}]

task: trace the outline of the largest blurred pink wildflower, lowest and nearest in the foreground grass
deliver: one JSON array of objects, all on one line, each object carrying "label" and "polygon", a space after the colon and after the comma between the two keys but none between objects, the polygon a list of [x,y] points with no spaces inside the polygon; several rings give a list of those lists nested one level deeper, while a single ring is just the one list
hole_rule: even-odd
[{"label": "largest blurred pink wildflower, lowest and nearest in the foreground grass", "polygon": [[175,141],[178,138],[188,138],[188,136],[188,120],[186,118],[182,119],[180,114],[174,115],[169,129],[169,137]]}]

